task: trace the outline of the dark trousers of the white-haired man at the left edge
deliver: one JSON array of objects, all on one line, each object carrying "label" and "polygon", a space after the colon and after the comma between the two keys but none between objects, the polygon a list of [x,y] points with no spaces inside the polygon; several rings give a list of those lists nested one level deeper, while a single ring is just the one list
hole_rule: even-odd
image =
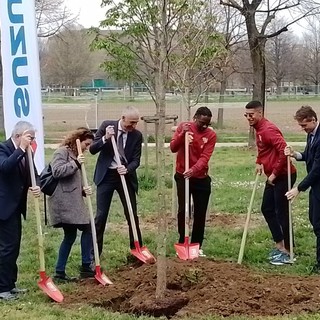
[{"label": "dark trousers of the white-haired man at the left edge", "polygon": [[16,212],[0,220],[0,292],[15,287],[18,275],[17,259],[21,243],[21,214]]}]

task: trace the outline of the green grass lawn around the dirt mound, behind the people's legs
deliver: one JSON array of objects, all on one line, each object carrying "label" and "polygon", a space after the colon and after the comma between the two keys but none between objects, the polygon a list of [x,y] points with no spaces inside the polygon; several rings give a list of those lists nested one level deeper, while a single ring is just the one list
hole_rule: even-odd
[{"label": "green grass lawn around the dirt mound, behind the people's legs", "polygon": [[[152,151],[153,150],[153,151]],[[46,150],[46,160],[51,159],[53,150]],[[89,181],[92,181],[93,170],[96,157],[87,154],[86,168]],[[171,215],[171,186],[172,186],[172,163],[173,157],[166,151],[166,185],[167,210]],[[149,152],[149,175],[144,171],[144,159],[141,161],[141,167],[138,171],[140,184],[142,186],[138,196],[138,212],[141,216],[141,222],[144,220],[157,221],[157,191],[154,188],[156,167],[154,149]],[[255,168],[255,151],[246,148],[218,148],[214,152],[210,162],[210,175],[212,177],[212,196],[210,200],[211,214],[220,213],[230,215],[230,217],[239,217],[239,226],[221,226],[216,225],[206,229],[206,239],[204,242],[205,252],[214,258],[236,261],[239,244],[242,236],[242,226],[245,221],[248,202],[250,200]],[[297,165],[298,181],[305,175],[304,164]],[[264,179],[261,178],[256,199],[253,206],[253,218],[260,217],[260,204]],[[95,206],[95,197],[92,197]],[[244,264],[252,270],[262,270],[265,272],[279,272],[293,275],[307,275],[315,256],[315,237],[310,228],[307,219],[307,194],[301,194],[293,204],[294,226],[296,236],[296,254],[299,256],[298,262],[293,266],[275,269],[270,266],[265,256],[272,246],[272,240],[264,221],[255,228],[250,229],[247,246],[244,255]],[[42,219],[44,217],[42,216]],[[105,248],[108,250],[108,259],[102,255],[102,265],[108,269],[111,274],[116,272],[116,268],[125,264],[128,254],[128,235],[127,226],[122,212],[122,206],[118,197],[114,197],[110,210],[110,230],[105,234]],[[121,231],[119,231],[121,230]],[[45,233],[45,251],[47,273],[52,274],[57,256],[57,249],[62,239],[61,230],[44,226]],[[143,229],[145,243],[152,252],[156,251],[156,225]],[[177,232],[174,227],[169,228],[168,256],[174,256],[173,243],[177,239]],[[77,275],[80,264],[79,239],[73,248],[68,265],[67,272],[70,275]],[[29,200],[28,219],[23,223],[23,239],[21,254],[19,257],[19,285],[28,287],[30,294],[17,302],[0,303],[0,314],[3,319],[114,319],[114,320],[133,320],[148,319],[147,317],[133,317],[117,313],[110,313],[88,305],[77,305],[73,308],[64,308],[62,306],[50,303],[43,293],[37,288],[36,280],[38,278],[38,250],[35,218],[33,215],[33,201]],[[73,290],[75,284],[62,285],[64,292]],[[254,319],[301,319],[316,320],[319,315],[295,315],[278,317],[259,317]],[[222,319],[218,316],[204,317],[203,320]],[[246,317],[230,317],[230,319],[244,320]],[[252,318],[253,319],[253,318]]]}]

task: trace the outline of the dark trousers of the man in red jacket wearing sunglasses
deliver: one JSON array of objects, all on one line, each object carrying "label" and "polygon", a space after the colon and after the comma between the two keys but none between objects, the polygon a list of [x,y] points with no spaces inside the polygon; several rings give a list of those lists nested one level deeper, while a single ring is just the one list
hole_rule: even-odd
[{"label": "dark trousers of the man in red jacket wearing sunglasses", "polygon": [[[294,185],[297,174],[291,174],[291,187]],[[290,250],[289,241],[289,202],[285,196],[288,191],[287,175],[278,176],[274,186],[266,183],[261,212],[269,226],[274,242],[284,241],[287,250]]]}]

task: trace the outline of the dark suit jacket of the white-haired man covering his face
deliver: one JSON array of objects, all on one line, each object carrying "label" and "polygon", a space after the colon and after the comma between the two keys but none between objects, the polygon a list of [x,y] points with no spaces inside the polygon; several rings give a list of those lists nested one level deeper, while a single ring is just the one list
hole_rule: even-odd
[{"label": "dark suit jacket of the white-haired man covering his face", "polygon": [[[21,160],[25,158],[25,166]],[[12,214],[26,217],[27,193],[30,186],[27,155],[15,148],[11,139],[0,143],[0,220]]]}]

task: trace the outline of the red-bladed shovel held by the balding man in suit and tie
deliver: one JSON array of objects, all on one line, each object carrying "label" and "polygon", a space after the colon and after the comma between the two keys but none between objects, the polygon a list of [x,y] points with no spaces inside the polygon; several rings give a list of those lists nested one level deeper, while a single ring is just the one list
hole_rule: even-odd
[{"label": "red-bladed shovel held by the balding man in suit and tie", "polygon": [[[118,147],[117,147],[116,140],[115,140],[114,136],[111,136],[111,142],[112,142],[112,147],[113,147],[113,151],[114,151],[114,155],[115,155],[115,158],[116,158],[117,165],[121,166],[121,160],[120,160],[120,156],[119,156],[119,151],[118,151]],[[131,249],[131,253],[137,259],[142,261],[143,263],[150,263],[150,264],[151,263],[155,263],[156,259],[151,254],[151,252],[148,250],[148,248],[145,247],[145,246],[140,247],[138,234],[137,234],[137,227],[136,227],[136,223],[135,223],[135,220],[134,220],[134,215],[133,215],[132,205],[131,205],[131,201],[130,201],[127,182],[126,182],[126,179],[125,179],[124,175],[122,175],[122,174],[120,174],[120,179],[121,179],[124,195],[125,195],[126,202],[127,202],[127,207],[128,207],[128,211],[129,211],[129,217],[130,217],[130,223],[131,223],[132,233],[133,233],[133,241],[134,241],[135,249]]]}]

